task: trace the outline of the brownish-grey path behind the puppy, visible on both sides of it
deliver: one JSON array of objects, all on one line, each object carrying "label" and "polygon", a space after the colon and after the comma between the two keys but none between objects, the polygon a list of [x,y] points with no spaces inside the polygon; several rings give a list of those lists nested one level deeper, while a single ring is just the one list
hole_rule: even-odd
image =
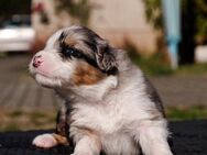
[{"label": "brownish-grey path behind the puppy, visible on both sides of it", "polygon": [[[29,75],[29,55],[0,57],[0,108],[56,108],[61,100]],[[207,106],[207,77],[151,77],[165,107]]]}]

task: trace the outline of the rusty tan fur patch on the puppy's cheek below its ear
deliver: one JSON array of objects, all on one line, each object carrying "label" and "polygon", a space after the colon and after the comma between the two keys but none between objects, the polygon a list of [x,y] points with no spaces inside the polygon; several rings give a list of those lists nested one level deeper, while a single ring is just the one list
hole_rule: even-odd
[{"label": "rusty tan fur patch on the puppy's cheek below its ear", "polygon": [[79,85],[94,85],[106,77],[100,70],[87,63],[78,64],[74,74],[74,84]]}]

